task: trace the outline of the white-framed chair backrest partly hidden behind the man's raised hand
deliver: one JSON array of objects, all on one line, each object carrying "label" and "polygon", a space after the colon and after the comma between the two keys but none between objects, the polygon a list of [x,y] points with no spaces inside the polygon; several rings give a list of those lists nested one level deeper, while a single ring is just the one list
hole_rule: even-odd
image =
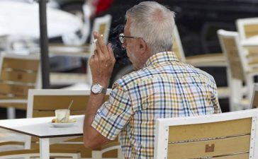
[{"label": "white-framed chair backrest partly hidden behind the man's raised hand", "polygon": [[[106,16],[95,18],[93,23],[92,32],[96,31],[100,35],[103,35],[103,40],[106,44],[108,43],[109,30],[111,27],[111,19],[112,19],[112,16],[107,14]],[[94,40],[94,36],[93,34],[91,34],[91,42],[93,40]],[[90,44],[90,47],[89,47],[90,55],[94,53],[95,48],[96,48],[95,44]],[[91,79],[91,69],[89,68],[89,59],[87,62],[87,81],[91,86],[92,79]]]}]

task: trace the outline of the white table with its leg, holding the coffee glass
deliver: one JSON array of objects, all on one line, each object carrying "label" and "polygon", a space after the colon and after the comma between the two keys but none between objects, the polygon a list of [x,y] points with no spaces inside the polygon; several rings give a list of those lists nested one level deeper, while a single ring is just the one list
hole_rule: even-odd
[{"label": "white table with its leg, holding the coffee glass", "polygon": [[74,115],[77,123],[67,128],[55,128],[54,117],[0,120],[0,128],[35,136],[40,139],[40,159],[50,159],[50,144],[66,141],[83,135],[84,115]]}]

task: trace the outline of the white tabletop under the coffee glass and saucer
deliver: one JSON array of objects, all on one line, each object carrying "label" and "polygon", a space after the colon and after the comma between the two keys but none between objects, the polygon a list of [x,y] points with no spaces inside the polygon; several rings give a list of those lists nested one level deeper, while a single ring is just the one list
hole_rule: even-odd
[{"label": "white tabletop under the coffee glass and saucer", "polygon": [[36,136],[38,138],[55,138],[64,136],[82,136],[84,115],[72,115],[70,119],[76,119],[72,126],[57,128],[52,125],[55,117],[37,117],[25,119],[0,120],[0,128],[16,131],[21,134]]}]

